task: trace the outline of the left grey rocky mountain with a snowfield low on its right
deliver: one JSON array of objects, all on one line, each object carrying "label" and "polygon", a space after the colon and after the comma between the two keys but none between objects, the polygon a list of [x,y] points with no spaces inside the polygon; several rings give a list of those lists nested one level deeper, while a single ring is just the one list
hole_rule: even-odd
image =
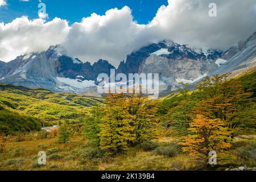
[{"label": "left grey rocky mountain with a snowfield low on its right", "polygon": [[60,46],[47,51],[18,56],[0,67],[0,82],[30,88],[47,88],[55,92],[83,93],[91,86],[98,74],[107,73],[114,67],[105,60],[91,65],[65,55]]}]

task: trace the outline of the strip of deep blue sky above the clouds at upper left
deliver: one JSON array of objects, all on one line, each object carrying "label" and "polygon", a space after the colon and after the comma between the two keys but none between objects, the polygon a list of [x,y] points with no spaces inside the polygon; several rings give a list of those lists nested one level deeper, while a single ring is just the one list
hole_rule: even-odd
[{"label": "strip of deep blue sky above the clouds at upper left", "polygon": [[[109,9],[129,6],[133,11],[134,20],[146,24],[154,18],[162,5],[168,5],[167,0],[43,0],[46,4],[46,13],[49,19],[55,17],[67,19],[69,24],[80,22],[83,17],[92,13],[104,15]],[[7,0],[7,6],[0,7],[0,22],[9,23],[13,19],[26,15],[29,19],[38,18],[38,0],[23,2],[20,0]]]}]

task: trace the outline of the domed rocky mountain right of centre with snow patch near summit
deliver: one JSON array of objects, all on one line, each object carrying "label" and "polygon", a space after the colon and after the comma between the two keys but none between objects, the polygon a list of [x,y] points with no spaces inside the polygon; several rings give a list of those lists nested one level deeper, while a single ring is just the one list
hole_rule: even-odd
[{"label": "domed rocky mountain right of centre with snow patch near summit", "polygon": [[160,91],[177,89],[179,82],[192,83],[216,71],[222,64],[220,50],[193,49],[170,40],[150,44],[127,56],[119,73],[159,73]]}]

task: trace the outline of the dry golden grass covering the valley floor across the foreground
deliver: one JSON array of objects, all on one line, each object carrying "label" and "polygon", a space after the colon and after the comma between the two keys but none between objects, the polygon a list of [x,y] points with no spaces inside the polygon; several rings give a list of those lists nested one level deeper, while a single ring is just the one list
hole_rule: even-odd
[{"label": "dry golden grass covering the valley floor across the foreground", "polygon": [[[170,146],[178,138],[158,139],[160,146]],[[255,167],[255,136],[242,136],[236,139],[231,149],[221,154],[221,160],[214,167],[203,170],[225,170],[241,166]],[[172,157],[158,155],[155,151],[144,151],[139,147],[131,148],[126,154],[115,157],[85,159],[86,143],[80,138],[72,138],[66,144],[56,139],[27,140],[9,142],[5,152],[0,154],[0,170],[198,170],[191,156],[181,153]],[[38,152],[46,151],[45,166],[38,164]],[[246,152],[246,154],[244,154]],[[254,158],[250,158],[253,152]],[[217,158],[218,160],[218,158]]]}]

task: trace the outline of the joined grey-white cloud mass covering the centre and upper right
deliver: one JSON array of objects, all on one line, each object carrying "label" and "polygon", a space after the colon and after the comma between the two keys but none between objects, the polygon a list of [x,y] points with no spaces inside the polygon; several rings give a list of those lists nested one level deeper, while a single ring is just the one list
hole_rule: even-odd
[{"label": "joined grey-white cloud mass covering the centre and upper right", "polygon": [[129,7],[92,14],[74,23],[64,46],[82,60],[107,59],[117,66],[149,42],[171,39],[193,47],[225,49],[256,31],[255,0],[215,0],[217,17],[208,14],[212,0],[169,0],[148,24],[134,22]]}]

